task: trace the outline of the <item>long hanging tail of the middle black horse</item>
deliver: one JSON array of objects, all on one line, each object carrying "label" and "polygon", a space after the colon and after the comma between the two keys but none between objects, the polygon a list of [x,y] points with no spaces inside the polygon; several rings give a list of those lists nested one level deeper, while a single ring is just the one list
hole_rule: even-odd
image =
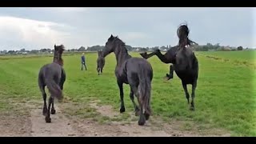
[{"label": "long hanging tail of the middle black horse", "polygon": [[151,114],[150,108],[150,94],[151,94],[151,74],[152,70],[143,69],[141,66],[140,72],[138,73],[139,85],[138,85],[138,95],[139,100],[142,102],[146,114]]}]

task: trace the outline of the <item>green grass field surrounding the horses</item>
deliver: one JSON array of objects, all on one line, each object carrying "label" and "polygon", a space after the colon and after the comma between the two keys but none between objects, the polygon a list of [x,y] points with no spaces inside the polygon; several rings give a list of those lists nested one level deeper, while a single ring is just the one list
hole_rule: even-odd
[{"label": "green grass field surrounding the horses", "polygon": [[[151,95],[154,116],[162,118],[164,122],[185,122],[186,130],[193,129],[196,125],[202,130],[222,128],[232,136],[256,136],[256,51],[196,54],[199,78],[195,93],[195,111],[189,110],[181,81],[176,74],[168,82],[163,79],[169,71],[169,65],[160,62],[158,58],[149,59],[154,70]],[[138,53],[132,55],[139,57]],[[114,54],[106,57],[101,76],[96,72],[96,53],[86,54],[87,71],[81,71],[80,55],[64,55],[63,59],[67,75],[64,94],[69,101],[86,105],[91,99],[99,99],[102,105],[110,105],[114,110],[119,110]],[[22,108],[15,107],[17,102],[42,101],[38,90],[38,70],[48,62],[52,62],[52,57],[0,57],[1,114],[6,110],[19,113]],[[125,85],[126,111],[133,111],[129,92],[129,86]],[[74,115],[95,117],[94,110],[73,111]],[[124,114],[123,118],[126,117]],[[190,125],[191,122],[193,125]]]}]

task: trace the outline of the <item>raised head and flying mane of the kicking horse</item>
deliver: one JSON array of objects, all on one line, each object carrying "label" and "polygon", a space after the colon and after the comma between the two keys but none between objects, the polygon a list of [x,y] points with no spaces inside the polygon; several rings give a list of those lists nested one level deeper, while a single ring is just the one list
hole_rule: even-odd
[{"label": "raised head and flying mane of the kicking horse", "polygon": [[178,46],[185,47],[186,45],[190,46],[190,39],[188,38],[190,34],[190,29],[188,28],[186,23],[180,24],[178,26],[177,35],[178,35]]}]

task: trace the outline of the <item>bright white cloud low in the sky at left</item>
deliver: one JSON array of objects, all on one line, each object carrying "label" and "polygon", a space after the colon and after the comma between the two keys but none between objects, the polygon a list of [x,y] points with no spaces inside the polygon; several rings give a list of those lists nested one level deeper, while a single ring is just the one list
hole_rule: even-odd
[{"label": "bright white cloud low in the sky at left", "polygon": [[[64,30],[70,26],[26,18],[0,16],[0,38],[5,46],[53,46],[70,37]],[[62,30],[54,30],[54,28]],[[16,46],[15,46],[16,45]]]}]

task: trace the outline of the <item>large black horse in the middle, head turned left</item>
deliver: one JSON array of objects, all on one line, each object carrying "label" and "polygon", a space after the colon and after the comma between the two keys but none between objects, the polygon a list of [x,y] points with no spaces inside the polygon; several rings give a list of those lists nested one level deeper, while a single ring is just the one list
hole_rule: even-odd
[{"label": "large black horse in the middle, head turned left", "polygon": [[[144,58],[132,58],[126,50],[125,43],[112,34],[102,51],[105,58],[107,54],[114,52],[117,59],[115,76],[120,90],[121,108],[120,113],[125,112],[123,101],[123,83],[130,85],[130,99],[133,102],[135,115],[140,115],[138,125],[142,126],[150,118],[150,92],[153,70],[149,62]],[[138,98],[139,108],[134,102],[134,95]],[[145,110],[143,114],[143,109]]]}]

